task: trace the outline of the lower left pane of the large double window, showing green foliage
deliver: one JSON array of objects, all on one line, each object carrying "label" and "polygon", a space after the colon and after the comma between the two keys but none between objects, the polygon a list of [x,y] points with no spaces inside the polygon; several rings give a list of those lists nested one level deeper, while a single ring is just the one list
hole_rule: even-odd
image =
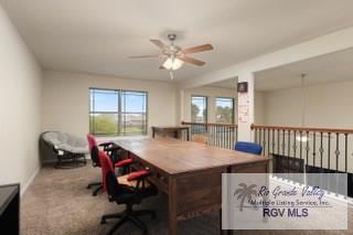
[{"label": "lower left pane of the large double window, showing green foliage", "polygon": [[118,115],[117,114],[90,114],[89,129],[96,135],[117,135]]}]

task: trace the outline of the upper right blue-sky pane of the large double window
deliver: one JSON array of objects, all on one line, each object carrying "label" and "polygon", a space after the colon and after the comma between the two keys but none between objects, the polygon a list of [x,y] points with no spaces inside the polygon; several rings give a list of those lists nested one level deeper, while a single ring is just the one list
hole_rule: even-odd
[{"label": "upper right blue-sky pane of the large double window", "polygon": [[122,113],[146,113],[147,94],[122,92]]}]

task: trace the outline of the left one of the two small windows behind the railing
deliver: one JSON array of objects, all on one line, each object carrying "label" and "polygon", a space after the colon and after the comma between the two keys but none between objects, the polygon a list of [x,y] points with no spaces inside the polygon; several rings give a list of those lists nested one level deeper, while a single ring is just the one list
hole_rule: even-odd
[{"label": "left one of the two small windows behind the railing", "polygon": [[207,122],[207,97],[191,97],[191,121]]}]

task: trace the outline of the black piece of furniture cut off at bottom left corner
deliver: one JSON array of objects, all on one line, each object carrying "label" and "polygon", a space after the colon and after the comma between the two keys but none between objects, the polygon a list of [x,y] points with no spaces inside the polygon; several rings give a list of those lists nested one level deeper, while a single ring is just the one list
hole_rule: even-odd
[{"label": "black piece of furniture cut off at bottom left corner", "polygon": [[20,234],[20,184],[0,186],[0,229]]}]

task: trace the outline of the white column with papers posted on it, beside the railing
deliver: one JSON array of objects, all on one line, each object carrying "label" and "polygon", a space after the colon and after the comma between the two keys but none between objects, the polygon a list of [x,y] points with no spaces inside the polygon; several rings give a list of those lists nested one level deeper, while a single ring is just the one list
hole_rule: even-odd
[{"label": "white column with papers posted on it, beside the railing", "polygon": [[255,120],[254,73],[246,72],[238,76],[238,83],[247,83],[247,92],[238,93],[238,140],[252,141],[250,126]]}]

